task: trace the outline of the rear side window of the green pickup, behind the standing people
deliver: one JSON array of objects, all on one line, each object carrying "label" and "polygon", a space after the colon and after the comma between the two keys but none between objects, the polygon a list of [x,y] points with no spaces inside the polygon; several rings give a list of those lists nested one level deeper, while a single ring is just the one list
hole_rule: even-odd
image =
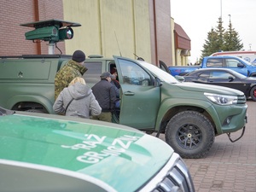
[{"label": "rear side window of the green pickup, behind the standing people", "polygon": [[83,75],[86,84],[96,84],[97,82],[99,82],[101,79],[100,76],[102,74],[102,62],[85,61],[84,66],[88,68],[88,70]]}]

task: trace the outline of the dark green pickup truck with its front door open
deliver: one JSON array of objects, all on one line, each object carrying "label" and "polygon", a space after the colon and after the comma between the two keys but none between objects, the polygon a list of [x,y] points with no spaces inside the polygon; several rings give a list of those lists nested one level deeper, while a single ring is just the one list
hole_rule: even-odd
[{"label": "dark green pickup truck with its front door open", "polygon": [[[56,22],[61,25],[60,21]],[[38,23],[44,22],[24,25],[36,27]],[[29,34],[29,39],[38,37],[38,31]],[[72,56],[13,57],[0,56],[0,106],[16,111],[54,113],[55,74]],[[84,66],[88,68],[84,79],[90,86],[100,80],[103,72],[117,70],[120,108],[113,113],[113,123],[157,132],[157,137],[165,133],[166,143],[183,158],[207,155],[220,134],[227,133],[230,138],[231,132],[243,129],[242,136],[245,131],[247,103],[240,90],[182,83],[162,70],[166,67],[122,56],[108,59],[90,55]]]}]

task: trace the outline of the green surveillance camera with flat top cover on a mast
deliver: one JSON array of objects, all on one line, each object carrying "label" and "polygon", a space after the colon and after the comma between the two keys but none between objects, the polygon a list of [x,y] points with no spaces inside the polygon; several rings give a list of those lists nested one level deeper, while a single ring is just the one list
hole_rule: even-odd
[{"label": "green surveillance camera with flat top cover on a mast", "polygon": [[[73,29],[71,26],[74,27],[81,25],[79,23],[66,20],[42,20],[38,22],[20,24],[20,26],[35,27],[35,30],[25,33],[26,40],[32,40],[33,42],[35,39],[49,41],[48,53],[49,55],[54,55],[54,45],[57,42],[73,38]],[[66,26],[66,28],[61,29],[61,27],[64,26]]]}]

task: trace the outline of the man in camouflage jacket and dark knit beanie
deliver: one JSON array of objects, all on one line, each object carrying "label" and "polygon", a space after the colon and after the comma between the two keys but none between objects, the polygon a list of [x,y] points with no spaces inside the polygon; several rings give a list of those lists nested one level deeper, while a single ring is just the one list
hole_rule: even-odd
[{"label": "man in camouflage jacket and dark knit beanie", "polygon": [[87,71],[87,68],[83,66],[85,61],[84,52],[76,50],[73,53],[73,57],[68,61],[67,65],[61,67],[61,69],[55,75],[55,100],[65,87],[68,87],[70,82],[77,78],[83,77],[83,74]]}]

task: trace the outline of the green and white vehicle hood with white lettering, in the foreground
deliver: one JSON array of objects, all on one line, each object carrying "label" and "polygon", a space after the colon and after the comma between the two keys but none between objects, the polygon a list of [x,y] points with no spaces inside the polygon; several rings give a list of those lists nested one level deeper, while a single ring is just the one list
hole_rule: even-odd
[{"label": "green and white vehicle hood with white lettering, in the foreground", "polygon": [[0,191],[194,192],[158,138],[124,125],[0,108]]}]

